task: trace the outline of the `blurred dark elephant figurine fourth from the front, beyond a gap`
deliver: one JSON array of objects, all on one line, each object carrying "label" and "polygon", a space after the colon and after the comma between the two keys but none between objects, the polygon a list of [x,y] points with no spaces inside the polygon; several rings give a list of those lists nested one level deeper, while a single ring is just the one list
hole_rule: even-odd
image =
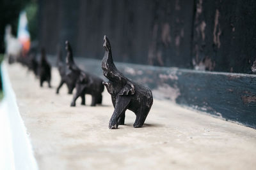
[{"label": "blurred dark elephant figurine fourth from the front, beyond a gap", "polygon": [[41,59],[38,64],[38,75],[40,78],[40,87],[43,87],[44,81],[48,82],[48,86],[51,88],[51,65],[47,61],[45,49],[41,49]]}]

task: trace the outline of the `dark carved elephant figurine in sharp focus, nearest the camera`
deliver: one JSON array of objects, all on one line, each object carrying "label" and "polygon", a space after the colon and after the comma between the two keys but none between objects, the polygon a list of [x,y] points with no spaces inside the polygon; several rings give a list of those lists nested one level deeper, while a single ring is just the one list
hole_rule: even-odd
[{"label": "dark carved elephant figurine in sharp focus, nearest the camera", "polygon": [[118,125],[124,125],[125,111],[131,110],[136,115],[133,127],[142,127],[148,112],[153,104],[153,96],[150,89],[126,78],[118,69],[112,59],[111,45],[104,36],[105,54],[102,59],[102,71],[109,81],[104,81],[113,106],[115,108],[109,120],[109,129],[117,129]]}]

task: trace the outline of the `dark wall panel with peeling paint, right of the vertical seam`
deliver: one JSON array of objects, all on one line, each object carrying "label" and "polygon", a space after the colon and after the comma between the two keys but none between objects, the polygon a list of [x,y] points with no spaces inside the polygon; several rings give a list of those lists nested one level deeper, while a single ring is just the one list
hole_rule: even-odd
[{"label": "dark wall panel with peeling paint, right of the vertical seam", "polygon": [[255,9],[256,1],[196,0],[194,65],[203,64],[214,71],[252,73],[256,59]]}]

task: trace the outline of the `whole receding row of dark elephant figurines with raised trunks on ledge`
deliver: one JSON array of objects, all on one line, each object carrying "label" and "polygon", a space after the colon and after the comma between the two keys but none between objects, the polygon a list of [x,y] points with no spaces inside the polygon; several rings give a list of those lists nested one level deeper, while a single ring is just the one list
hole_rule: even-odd
[{"label": "whole receding row of dark elephant figurines with raised trunks on ledge", "polygon": [[[92,96],[91,106],[102,103],[102,92],[104,86],[111,95],[111,100],[115,108],[109,120],[109,129],[117,129],[118,125],[124,125],[125,111],[131,110],[136,115],[134,127],[142,127],[148,112],[153,104],[153,96],[150,89],[126,78],[115,66],[111,53],[109,39],[104,36],[104,57],[102,59],[102,71],[109,81],[103,81],[98,76],[81,70],[74,62],[71,45],[65,42],[67,50],[66,64],[58,53],[57,66],[60,72],[60,85],[56,89],[58,94],[62,85],[68,87],[68,94],[76,88],[76,93],[71,102],[71,106],[76,106],[76,100],[81,97],[81,104],[85,104],[85,94]],[[33,70],[40,78],[40,86],[44,81],[51,87],[51,65],[47,61],[45,50],[42,49],[40,62],[37,64],[35,59],[31,59],[29,69]]]}]

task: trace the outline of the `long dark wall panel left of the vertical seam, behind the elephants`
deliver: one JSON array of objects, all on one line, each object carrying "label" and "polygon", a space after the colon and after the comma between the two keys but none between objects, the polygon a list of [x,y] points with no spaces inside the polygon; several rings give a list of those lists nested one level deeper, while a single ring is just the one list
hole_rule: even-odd
[{"label": "long dark wall panel left of the vertical seam, behind the elephants", "polygon": [[40,43],[56,53],[68,39],[74,53],[100,59],[106,34],[120,62],[191,67],[193,1],[40,1]]}]

